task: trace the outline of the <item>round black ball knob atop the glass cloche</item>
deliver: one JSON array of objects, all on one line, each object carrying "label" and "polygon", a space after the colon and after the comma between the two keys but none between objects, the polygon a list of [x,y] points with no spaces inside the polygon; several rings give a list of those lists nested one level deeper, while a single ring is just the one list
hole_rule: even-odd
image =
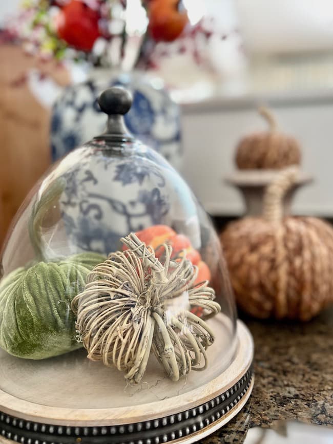
[{"label": "round black ball knob atop the glass cloche", "polygon": [[129,91],[119,87],[112,87],[103,91],[98,98],[100,109],[109,116],[128,113],[132,101],[132,95]]}]

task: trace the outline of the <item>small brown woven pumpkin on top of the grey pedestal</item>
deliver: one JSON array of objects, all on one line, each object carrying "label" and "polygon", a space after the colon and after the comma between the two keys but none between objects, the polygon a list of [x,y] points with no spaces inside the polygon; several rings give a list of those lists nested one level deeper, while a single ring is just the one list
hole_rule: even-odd
[{"label": "small brown woven pumpkin on top of the grey pedestal", "polygon": [[236,147],[236,164],[240,170],[277,170],[301,163],[300,145],[294,137],[278,131],[269,110],[262,107],[259,113],[269,124],[268,131],[245,136]]}]

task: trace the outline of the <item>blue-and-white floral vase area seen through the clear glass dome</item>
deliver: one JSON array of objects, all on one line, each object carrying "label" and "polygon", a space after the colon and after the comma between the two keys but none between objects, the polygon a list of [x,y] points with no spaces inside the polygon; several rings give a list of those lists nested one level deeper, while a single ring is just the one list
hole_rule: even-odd
[{"label": "blue-and-white floral vase area seen through the clear glass dome", "polygon": [[172,221],[179,221],[179,228],[196,242],[193,234],[198,235],[200,228],[192,194],[163,157],[144,148],[135,159],[109,157],[107,151],[98,150],[92,156],[96,146],[98,142],[92,141],[56,166],[59,175],[68,162],[73,165],[61,176],[65,185],[59,204],[68,255],[82,251],[108,255],[129,232]]}]

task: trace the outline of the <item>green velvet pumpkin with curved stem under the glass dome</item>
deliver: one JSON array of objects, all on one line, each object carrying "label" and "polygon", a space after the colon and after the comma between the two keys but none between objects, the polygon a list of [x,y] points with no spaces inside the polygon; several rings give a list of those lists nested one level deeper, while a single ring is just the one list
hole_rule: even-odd
[{"label": "green velvet pumpkin with curved stem under the glass dome", "polygon": [[40,227],[65,186],[63,180],[54,182],[32,209],[28,229],[36,260],[0,283],[0,347],[17,357],[39,360],[81,346],[70,304],[85,287],[88,272],[105,257],[84,252],[48,259]]}]

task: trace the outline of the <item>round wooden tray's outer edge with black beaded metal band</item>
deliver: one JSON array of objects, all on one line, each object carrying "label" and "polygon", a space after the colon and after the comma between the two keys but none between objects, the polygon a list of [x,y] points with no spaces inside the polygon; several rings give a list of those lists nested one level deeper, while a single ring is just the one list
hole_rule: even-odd
[{"label": "round wooden tray's outer edge with black beaded metal band", "polygon": [[[100,409],[100,412],[98,409],[59,409],[56,413],[55,408],[29,403],[0,390],[0,443],[195,442],[230,421],[251,394],[253,341],[241,321],[237,324],[237,338],[236,355],[223,374],[193,392],[150,403],[156,410],[149,414],[149,419],[150,404],[136,406],[126,421],[125,417],[115,417],[115,409]],[[174,411],[172,405],[176,406]]]}]

